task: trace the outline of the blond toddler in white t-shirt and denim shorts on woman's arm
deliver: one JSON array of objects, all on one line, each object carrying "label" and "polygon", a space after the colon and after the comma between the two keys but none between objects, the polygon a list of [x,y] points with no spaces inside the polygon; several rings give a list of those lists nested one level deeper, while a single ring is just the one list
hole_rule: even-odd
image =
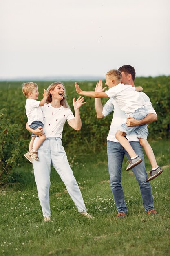
[{"label": "blond toddler in white t-shirt and denim shorts on woman's arm", "polygon": [[[23,83],[22,84],[22,92],[27,98],[26,100],[26,115],[28,117],[28,124],[32,129],[36,129],[38,127],[42,127],[44,125],[43,121],[43,115],[42,115],[42,110],[41,106],[44,106],[46,103],[47,99],[47,92],[44,89],[43,99],[41,101],[37,101],[38,99],[38,85],[33,82],[28,82],[28,83]],[[35,140],[36,135],[32,133],[31,141],[29,143],[29,151],[24,154],[26,159],[28,159],[30,162],[32,162],[32,158],[35,159],[36,161],[39,161],[38,159],[38,148],[41,146],[42,142],[46,139],[45,134],[39,137],[39,139],[36,141],[35,146],[33,148],[33,143]]]}]

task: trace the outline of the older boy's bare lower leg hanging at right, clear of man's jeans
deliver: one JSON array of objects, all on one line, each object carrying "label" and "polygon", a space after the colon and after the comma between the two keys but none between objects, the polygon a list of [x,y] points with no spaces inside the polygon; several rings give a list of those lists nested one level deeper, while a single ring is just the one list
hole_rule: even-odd
[{"label": "older boy's bare lower leg hanging at right, clear of man's jeans", "polygon": [[145,153],[150,161],[150,164],[152,166],[152,169],[155,169],[158,167],[157,165],[157,161],[155,159],[155,155],[153,153],[153,150],[150,146],[150,144],[148,143],[147,139],[141,139],[139,138],[139,143],[141,144],[141,146],[144,148]]}]

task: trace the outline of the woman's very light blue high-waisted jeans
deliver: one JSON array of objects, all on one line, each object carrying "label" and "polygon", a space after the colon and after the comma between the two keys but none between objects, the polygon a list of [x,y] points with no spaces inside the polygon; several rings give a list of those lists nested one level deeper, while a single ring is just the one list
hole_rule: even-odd
[{"label": "woman's very light blue high-waisted jeans", "polygon": [[[35,139],[34,143],[36,143],[37,139],[38,138]],[[78,208],[78,211],[86,212],[87,209],[81,191],[62,146],[62,140],[58,137],[47,138],[38,149],[38,157],[39,161],[33,159],[33,168],[43,216],[49,217],[51,215],[49,200],[51,164],[66,185],[66,189]]]}]

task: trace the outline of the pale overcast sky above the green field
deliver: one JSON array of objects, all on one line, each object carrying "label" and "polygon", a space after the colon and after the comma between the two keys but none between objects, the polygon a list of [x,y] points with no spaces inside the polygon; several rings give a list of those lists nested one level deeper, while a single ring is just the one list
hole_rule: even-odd
[{"label": "pale overcast sky above the green field", "polygon": [[0,79],[170,75],[169,0],[0,0]]}]

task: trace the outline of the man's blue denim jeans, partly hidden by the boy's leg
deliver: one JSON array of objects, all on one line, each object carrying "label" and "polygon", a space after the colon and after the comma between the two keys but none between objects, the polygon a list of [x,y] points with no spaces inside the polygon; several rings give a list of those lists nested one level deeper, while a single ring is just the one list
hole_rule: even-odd
[{"label": "man's blue denim jeans, partly hidden by the boy's leg", "polygon": [[[147,173],[144,163],[144,155],[142,152],[141,145],[139,141],[130,142],[133,150],[139,157],[143,159],[141,164],[135,166],[132,171],[135,174],[136,180],[139,183],[141,197],[143,200],[143,205],[145,211],[154,209],[153,206],[153,196],[152,190],[149,182],[146,182]],[[110,173],[110,186],[115,200],[115,205],[118,212],[127,212],[127,206],[124,200],[124,191],[121,186],[121,168],[124,155],[130,160],[130,155],[127,151],[121,146],[120,143],[107,141],[107,154],[108,154],[108,170]]]}]

